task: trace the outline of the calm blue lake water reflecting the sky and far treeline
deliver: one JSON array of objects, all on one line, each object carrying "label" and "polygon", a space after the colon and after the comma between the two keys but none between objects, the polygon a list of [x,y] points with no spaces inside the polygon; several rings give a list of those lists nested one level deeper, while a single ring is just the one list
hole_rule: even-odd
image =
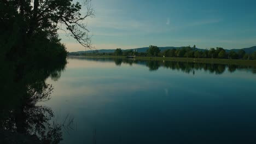
[{"label": "calm blue lake water reflecting the sky and far treeline", "polygon": [[69,57],[50,107],[61,143],[255,143],[256,69]]}]

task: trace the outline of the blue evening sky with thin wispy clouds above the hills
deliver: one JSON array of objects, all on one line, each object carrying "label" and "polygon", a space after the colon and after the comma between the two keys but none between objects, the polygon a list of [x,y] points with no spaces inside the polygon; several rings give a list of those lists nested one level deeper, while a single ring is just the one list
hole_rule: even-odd
[{"label": "blue evening sky with thin wispy clouds above the hills", "polygon": [[[86,22],[96,49],[256,45],[255,0],[92,0],[92,6],[95,17]],[[65,34],[60,36],[68,51],[85,50]]]}]

